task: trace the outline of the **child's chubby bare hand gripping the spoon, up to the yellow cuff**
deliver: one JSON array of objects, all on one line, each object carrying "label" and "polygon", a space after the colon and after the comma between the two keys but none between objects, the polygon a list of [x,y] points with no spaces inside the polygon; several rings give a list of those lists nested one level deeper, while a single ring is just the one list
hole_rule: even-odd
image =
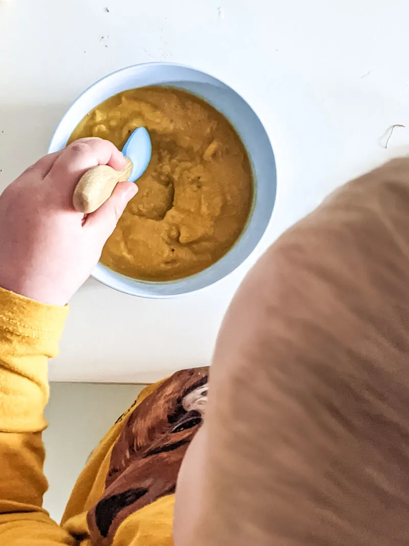
[{"label": "child's chubby bare hand gripping the spoon, up to the yellow cuff", "polygon": [[125,159],[107,140],[77,140],[40,159],[0,195],[0,287],[65,305],[87,279],[137,192],[134,183],[120,182],[98,210],[76,212],[74,188],[96,165],[122,170]]}]

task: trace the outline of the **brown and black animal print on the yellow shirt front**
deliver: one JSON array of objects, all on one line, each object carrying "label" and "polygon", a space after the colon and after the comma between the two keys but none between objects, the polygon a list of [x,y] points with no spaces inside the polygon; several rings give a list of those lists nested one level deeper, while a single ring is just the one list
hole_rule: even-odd
[{"label": "brown and black animal print on the yellow shirt front", "polygon": [[176,372],[130,414],[115,444],[103,497],[88,513],[91,542],[109,546],[130,514],[175,492],[207,401],[208,367]]}]

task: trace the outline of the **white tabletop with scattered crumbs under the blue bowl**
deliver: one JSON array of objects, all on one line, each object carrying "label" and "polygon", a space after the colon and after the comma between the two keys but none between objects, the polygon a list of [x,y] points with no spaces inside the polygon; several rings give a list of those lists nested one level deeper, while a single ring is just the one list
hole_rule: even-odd
[{"label": "white tabletop with scattered crumbs under the blue bowl", "polygon": [[[0,191],[44,155],[79,93],[150,61],[189,64],[235,88],[278,166],[275,211],[254,256],[173,300],[87,281],[51,379],[144,382],[210,362],[228,302],[263,249],[340,183],[409,150],[408,17],[406,0],[0,1]],[[407,128],[385,149],[395,123]]]}]

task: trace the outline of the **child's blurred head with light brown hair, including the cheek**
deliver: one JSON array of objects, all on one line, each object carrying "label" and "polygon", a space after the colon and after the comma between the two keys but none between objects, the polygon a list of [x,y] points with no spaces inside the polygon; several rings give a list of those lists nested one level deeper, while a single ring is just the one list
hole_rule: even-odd
[{"label": "child's blurred head with light brown hair, including the cheek", "polygon": [[409,543],[409,159],[336,191],[243,282],[183,461],[175,546]]}]

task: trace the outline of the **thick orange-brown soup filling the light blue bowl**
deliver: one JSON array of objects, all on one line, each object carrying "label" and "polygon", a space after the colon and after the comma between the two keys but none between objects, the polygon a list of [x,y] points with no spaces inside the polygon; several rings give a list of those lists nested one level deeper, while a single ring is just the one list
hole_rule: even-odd
[{"label": "thick orange-brown soup filling the light blue bowl", "polygon": [[151,163],[101,262],[148,281],[193,275],[230,250],[248,219],[253,183],[244,145],[213,106],[166,87],[105,100],[83,118],[70,142],[100,136],[122,149],[136,127],[149,131]]}]

